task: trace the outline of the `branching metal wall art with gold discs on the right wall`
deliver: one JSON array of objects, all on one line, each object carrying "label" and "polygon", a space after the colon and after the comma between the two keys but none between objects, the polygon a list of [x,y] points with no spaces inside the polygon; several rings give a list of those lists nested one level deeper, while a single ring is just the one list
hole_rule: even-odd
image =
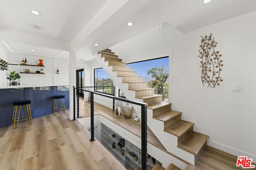
[{"label": "branching metal wall art with gold discs on the right wall", "polygon": [[[202,36],[201,36],[202,37]],[[220,85],[223,80],[220,77],[220,71],[222,70],[222,60],[219,51],[215,51],[217,43],[210,36],[205,35],[201,39],[201,45],[198,57],[200,57],[200,67],[202,68],[201,79],[203,86],[215,88],[216,85]]]}]

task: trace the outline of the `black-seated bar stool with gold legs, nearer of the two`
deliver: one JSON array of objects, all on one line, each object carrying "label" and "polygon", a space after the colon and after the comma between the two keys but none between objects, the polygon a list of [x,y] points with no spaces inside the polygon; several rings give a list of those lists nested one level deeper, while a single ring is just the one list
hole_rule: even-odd
[{"label": "black-seated bar stool with gold legs, nearer of the two", "polygon": [[[14,129],[16,129],[18,127],[19,121],[26,120],[26,121],[29,121],[30,124],[32,124],[32,115],[31,115],[30,104],[31,104],[31,100],[20,100],[20,101],[13,102],[14,110],[13,110],[13,114],[12,114],[12,125],[13,125]],[[24,116],[20,115],[20,108],[22,105],[24,106],[24,113],[25,113]],[[19,113],[18,113],[18,117],[17,117],[18,106],[20,106],[20,108],[19,108]],[[27,109],[28,115],[26,113],[26,109]],[[17,125],[15,125],[16,122],[17,122]]]}]

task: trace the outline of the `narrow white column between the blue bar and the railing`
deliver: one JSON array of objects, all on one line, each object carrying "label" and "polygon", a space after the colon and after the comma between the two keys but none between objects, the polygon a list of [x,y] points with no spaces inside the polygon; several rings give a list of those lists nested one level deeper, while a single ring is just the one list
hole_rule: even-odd
[{"label": "narrow white column between the blue bar and the railing", "polygon": [[69,52],[69,119],[73,119],[74,114],[74,99],[73,86],[76,87],[76,52]]}]

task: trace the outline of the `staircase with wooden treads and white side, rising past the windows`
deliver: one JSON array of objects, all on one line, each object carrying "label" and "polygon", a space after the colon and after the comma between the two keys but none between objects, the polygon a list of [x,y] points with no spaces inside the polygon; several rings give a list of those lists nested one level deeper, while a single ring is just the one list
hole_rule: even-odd
[{"label": "staircase with wooden treads and white side, rising past the windows", "polygon": [[195,164],[204,150],[208,136],[193,131],[194,123],[181,119],[181,112],[171,110],[171,104],[162,102],[162,95],[154,94],[147,82],[141,82],[122,59],[106,49],[96,59],[126,98],[148,104],[148,126],[164,147],[181,159]]}]

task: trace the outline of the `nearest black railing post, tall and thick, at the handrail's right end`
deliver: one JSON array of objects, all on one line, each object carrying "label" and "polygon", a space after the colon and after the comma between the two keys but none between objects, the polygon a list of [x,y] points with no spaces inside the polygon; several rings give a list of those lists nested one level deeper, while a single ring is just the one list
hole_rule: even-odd
[{"label": "nearest black railing post, tall and thick, at the handrail's right end", "polygon": [[147,105],[141,106],[141,168],[147,170]]}]

